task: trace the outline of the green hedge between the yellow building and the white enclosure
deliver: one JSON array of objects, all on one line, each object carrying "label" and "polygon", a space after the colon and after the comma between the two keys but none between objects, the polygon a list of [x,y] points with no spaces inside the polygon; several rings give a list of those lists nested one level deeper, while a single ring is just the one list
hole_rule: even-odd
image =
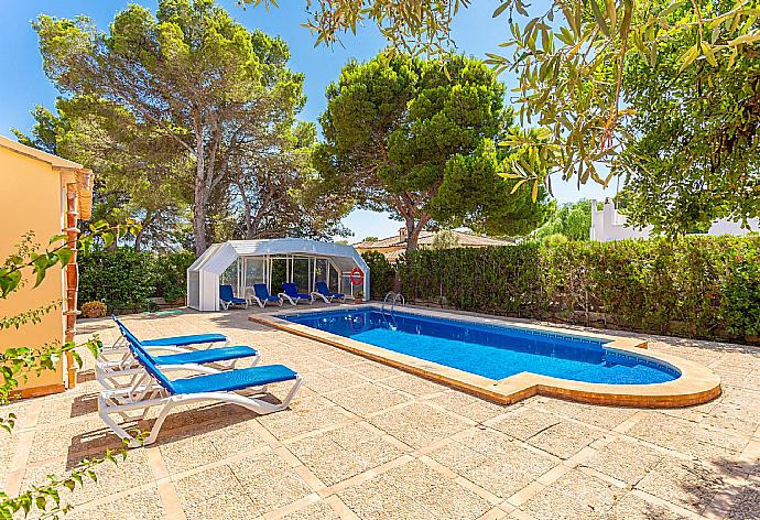
[{"label": "green hedge between the yellow building and the white enclosure", "polygon": [[148,308],[146,299],[183,302],[192,252],[156,254],[129,248],[95,250],[79,259],[79,303],[105,301],[118,314]]}]

